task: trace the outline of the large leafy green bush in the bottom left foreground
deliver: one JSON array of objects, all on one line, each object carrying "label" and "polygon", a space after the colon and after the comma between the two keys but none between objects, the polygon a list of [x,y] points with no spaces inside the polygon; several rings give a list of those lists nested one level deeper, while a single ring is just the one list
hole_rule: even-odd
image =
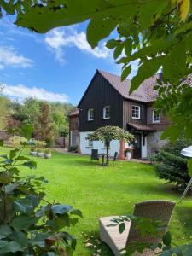
[{"label": "large leafy green bush in the bottom left foreground", "polygon": [[76,239],[63,228],[77,224],[82,213],[44,200],[44,177],[20,176],[21,166],[37,166],[21,145],[0,160],[0,254],[71,255]]}]

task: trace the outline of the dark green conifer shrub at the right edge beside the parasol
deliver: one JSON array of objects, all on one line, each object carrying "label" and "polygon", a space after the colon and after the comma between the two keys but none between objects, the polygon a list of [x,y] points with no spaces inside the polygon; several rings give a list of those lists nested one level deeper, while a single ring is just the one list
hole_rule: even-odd
[{"label": "dark green conifer shrub at the right edge beside the parasol", "polygon": [[168,144],[150,158],[158,177],[174,184],[177,189],[185,189],[190,180],[187,158],[180,154],[181,150],[188,147],[190,143],[180,137],[177,143]]}]

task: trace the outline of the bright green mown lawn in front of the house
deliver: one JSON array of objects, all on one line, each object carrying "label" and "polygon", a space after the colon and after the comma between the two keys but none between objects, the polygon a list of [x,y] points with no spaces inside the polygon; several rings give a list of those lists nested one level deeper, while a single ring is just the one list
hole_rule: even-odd
[{"label": "bright green mown lawn in front of the house", "polygon": [[[8,148],[3,148],[5,152]],[[1,152],[2,153],[2,152]],[[27,152],[28,154],[28,152]],[[108,215],[122,215],[132,212],[139,201],[167,199],[178,201],[180,193],[160,181],[153,166],[118,161],[116,165],[98,166],[90,163],[89,157],[75,154],[53,153],[51,160],[35,158],[36,173],[49,180],[46,185],[47,199],[79,208],[84,219],[79,220],[70,232],[77,237],[78,246],[74,255],[92,255],[96,249],[84,247],[85,236],[98,238],[98,218]],[[192,198],[177,204],[172,217],[171,231],[177,244],[192,241]],[[101,244],[102,256],[113,255],[107,246]]]}]

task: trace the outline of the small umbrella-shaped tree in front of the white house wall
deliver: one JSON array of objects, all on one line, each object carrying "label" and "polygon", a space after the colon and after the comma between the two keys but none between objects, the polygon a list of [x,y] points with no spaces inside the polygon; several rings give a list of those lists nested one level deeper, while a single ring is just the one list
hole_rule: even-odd
[{"label": "small umbrella-shaped tree in front of the white house wall", "polygon": [[110,142],[112,140],[125,140],[125,142],[130,143],[134,136],[129,132],[125,131],[118,126],[103,126],[86,137],[90,141],[102,141],[106,143],[106,153],[107,153],[107,164],[108,164],[108,149]]}]

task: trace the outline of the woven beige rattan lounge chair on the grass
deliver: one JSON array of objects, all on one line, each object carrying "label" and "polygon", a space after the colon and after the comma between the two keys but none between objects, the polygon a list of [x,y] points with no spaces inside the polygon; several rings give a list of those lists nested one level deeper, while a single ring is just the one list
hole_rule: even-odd
[{"label": "woven beige rattan lounge chair on the grass", "polygon": [[[140,218],[148,218],[154,220],[163,221],[167,225],[172,216],[172,211],[175,207],[174,201],[143,201],[135,205],[135,210],[133,215]],[[126,246],[129,246],[129,243],[133,241],[138,242],[148,242],[150,244],[156,244],[162,241],[166,229],[161,230],[158,233],[158,236],[140,236],[139,231],[136,229],[136,223],[127,221],[125,223],[125,231],[120,234],[118,226],[108,226],[114,224],[112,222],[113,218],[118,218],[118,216],[110,216],[99,218],[99,230],[100,238],[102,241],[108,244],[108,247],[111,248],[115,256],[122,255],[123,252],[120,250],[124,249]],[[136,255],[151,256],[157,253],[157,251],[151,251],[146,249],[143,254],[134,253]]]}]

